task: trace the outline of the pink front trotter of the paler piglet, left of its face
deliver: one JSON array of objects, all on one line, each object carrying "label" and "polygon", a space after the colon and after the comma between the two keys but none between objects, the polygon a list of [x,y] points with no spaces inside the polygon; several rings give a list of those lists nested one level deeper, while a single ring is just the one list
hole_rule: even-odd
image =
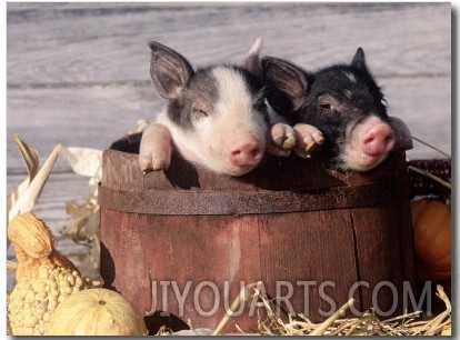
[{"label": "pink front trotter of the paler piglet, left of its face", "polygon": [[149,124],[142,132],[139,148],[139,167],[143,173],[167,170],[171,163],[172,138],[168,128]]}]

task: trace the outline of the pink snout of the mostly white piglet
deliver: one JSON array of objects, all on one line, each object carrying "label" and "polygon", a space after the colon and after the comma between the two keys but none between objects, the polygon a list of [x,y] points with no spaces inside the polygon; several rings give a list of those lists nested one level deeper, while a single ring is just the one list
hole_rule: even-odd
[{"label": "pink snout of the mostly white piglet", "polygon": [[263,157],[263,146],[253,138],[247,138],[230,149],[228,158],[233,166],[253,167]]}]

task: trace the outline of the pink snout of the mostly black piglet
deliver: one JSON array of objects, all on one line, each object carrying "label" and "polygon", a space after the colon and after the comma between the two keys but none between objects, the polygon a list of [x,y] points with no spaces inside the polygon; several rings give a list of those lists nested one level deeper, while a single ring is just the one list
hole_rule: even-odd
[{"label": "pink snout of the mostly black piglet", "polygon": [[379,156],[391,151],[396,136],[388,124],[378,124],[364,133],[361,139],[362,151],[368,156]]}]

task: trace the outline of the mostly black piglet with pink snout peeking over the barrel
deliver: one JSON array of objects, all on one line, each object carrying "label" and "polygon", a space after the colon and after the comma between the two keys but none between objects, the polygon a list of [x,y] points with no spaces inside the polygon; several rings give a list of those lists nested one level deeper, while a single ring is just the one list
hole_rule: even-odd
[{"label": "mostly black piglet with pink snout peeking over the barrel", "polygon": [[[322,132],[322,151],[341,170],[371,170],[394,148],[412,147],[407,126],[387,114],[386,100],[361,48],[350,64],[317,72],[272,57],[262,58],[262,67],[268,101],[294,126],[299,156],[312,139],[309,126]],[[303,131],[304,127],[309,129]]]}]

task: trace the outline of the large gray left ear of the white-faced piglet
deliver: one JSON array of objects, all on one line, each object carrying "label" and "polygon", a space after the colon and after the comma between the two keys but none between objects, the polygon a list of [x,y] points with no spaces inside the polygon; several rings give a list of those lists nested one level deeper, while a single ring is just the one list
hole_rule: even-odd
[{"label": "large gray left ear of the white-faced piglet", "polygon": [[150,41],[149,47],[152,53],[150,60],[150,76],[161,97],[174,99],[186,87],[193,69],[186,58],[170,48]]}]

